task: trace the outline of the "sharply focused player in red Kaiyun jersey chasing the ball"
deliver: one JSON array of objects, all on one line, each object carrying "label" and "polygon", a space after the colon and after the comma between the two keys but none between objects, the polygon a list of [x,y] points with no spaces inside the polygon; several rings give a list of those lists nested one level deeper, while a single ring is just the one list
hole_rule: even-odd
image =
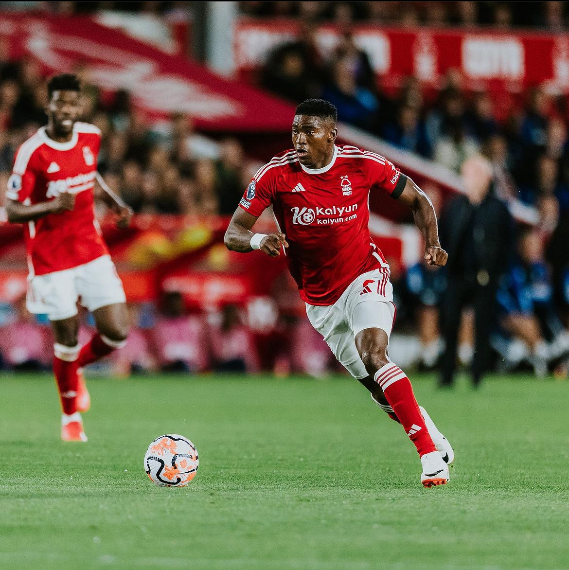
[{"label": "sharply focused player in red Kaiyun jersey chasing the ball", "polygon": [[[425,260],[446,263],[437,218],[424,192],[383,156],[336,146],[336,108],[322,99],[296,107],[294,149],[278,154],[251,180],[225,234],[233,251],[287,256],[312,326],[336,359],[399,422],[417,447],[425,487],[449,481],[448,440],[417,405],[409,378],[389,360],[395,320],[389,266],[368,230],[369,192],[409,206],[425,237]],[[270,205],[278,232],[251,232]]]}]

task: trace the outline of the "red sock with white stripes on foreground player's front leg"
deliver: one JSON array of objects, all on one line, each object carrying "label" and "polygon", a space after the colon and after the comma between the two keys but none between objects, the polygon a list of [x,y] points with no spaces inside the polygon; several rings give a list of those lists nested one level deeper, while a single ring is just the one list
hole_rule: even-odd
[{"label": "red sock with white stripes on foreground player's front leg", "polygon": [[395,416],[417,447],[418,454],[422,456],[436,451],[405,372],[390,362],[377,370],[373,378],[380,385]]}]

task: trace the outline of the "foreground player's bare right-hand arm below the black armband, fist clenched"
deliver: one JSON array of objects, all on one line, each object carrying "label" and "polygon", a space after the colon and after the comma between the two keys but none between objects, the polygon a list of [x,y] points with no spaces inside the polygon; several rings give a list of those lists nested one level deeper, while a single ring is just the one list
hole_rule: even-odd
[{"label": "foreground player's bare right-hand arm below the black armband, fist clenched", "polygon": [[444,266],[449,256],[438,241],[437,215],[429,197],[407,177],[405,188],[397,200],[413,211],[415,225],[425,237],[426,262],[429,265]]}]

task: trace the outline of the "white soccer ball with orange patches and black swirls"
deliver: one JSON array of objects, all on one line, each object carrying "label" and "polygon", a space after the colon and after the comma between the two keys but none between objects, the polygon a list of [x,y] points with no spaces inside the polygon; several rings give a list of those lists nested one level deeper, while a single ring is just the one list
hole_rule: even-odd
[{"label": "white soccer ball with orange patches and black swirls", "polygon": [[196,477],[199,464],[194,444],[178,434],[157,437],[144,455],[144,470],[161,487],[184,487]]}]

